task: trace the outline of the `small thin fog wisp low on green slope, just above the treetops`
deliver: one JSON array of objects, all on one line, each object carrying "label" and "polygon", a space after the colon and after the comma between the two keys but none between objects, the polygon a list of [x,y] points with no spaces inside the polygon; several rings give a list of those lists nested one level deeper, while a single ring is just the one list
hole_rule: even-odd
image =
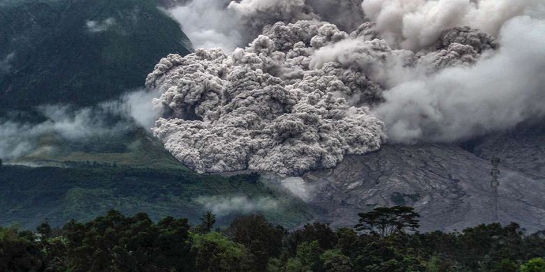
[{"label": "small thin fog wisp low on green slope, just above the treetops", "polygon": [[195,199],[195,202],[219,216],[229,213],[270,211],[279,207],[279,202],[271,197],[250,199],[246,196],[203,196]]}]

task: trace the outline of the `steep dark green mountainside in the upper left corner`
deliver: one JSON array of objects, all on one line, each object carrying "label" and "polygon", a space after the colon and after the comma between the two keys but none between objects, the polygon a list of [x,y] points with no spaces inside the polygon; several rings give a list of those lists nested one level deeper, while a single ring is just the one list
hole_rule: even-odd
[{"label": "steep dark green mountainside in the upper left corner", "polygon": [[0,1],[0,109],[89,106],[143,86],[189,39],[154,0]]}]

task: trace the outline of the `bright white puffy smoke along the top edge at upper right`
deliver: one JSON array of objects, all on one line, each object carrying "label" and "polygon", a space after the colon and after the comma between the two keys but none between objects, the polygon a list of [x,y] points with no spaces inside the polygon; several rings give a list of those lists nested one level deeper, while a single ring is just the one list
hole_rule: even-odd
[{"label": "bright white puffy smoke along the top edge at upper right", "polygon": [[388,45],[418,51],[453,27],[469,26],[496,36],[504,22],[542,4],[542,0],[365,0],[362,7]]}]

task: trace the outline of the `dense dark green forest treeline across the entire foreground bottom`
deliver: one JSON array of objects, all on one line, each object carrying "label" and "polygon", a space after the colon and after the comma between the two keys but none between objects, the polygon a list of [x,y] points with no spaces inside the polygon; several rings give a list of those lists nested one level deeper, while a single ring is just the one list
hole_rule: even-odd
[{"label": "dense dark green forest treeline across the entire foreground bottom", "polygon": [[340,229],[289,231],[260,214],[224,229],[215,221],[109,211],[36,232],[3,227],[0,271],[545,271],[545,232],[511,223],[419,233],[419,214],[406,206],[360,213],[358,225]]}]

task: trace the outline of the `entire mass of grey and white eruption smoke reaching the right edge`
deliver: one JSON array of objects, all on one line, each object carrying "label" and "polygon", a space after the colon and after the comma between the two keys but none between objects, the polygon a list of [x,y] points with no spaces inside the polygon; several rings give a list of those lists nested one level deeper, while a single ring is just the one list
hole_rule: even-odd
[{"label": "entire mass of grey and white eruption smoke reaching the right edge", "polygon": [[[165,113],[154,135],[198,172],[297,175],[375,151],[385,132],[451,142],[544,115],[541,1],[335,2],[215,6],[231,31],[261,34],[161,60],[147,78]],[[337,27],[326,10],[351,17]]]}]

